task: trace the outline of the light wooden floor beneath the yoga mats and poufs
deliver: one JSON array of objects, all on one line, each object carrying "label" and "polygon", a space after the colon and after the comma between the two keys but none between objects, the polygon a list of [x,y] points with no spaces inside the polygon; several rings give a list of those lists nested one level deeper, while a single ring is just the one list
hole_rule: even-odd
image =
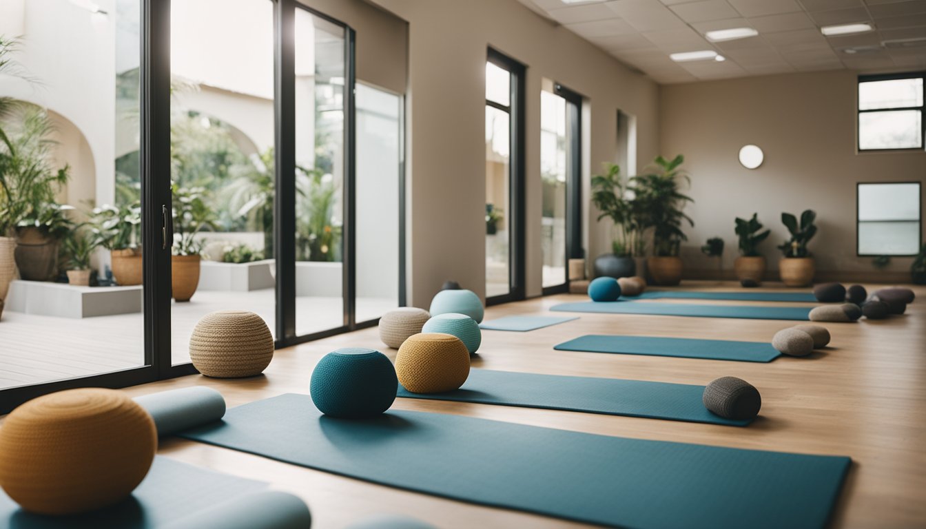
[{"label": "light wooden floor beneath the yoga mats and poufs", "polygon": [[[717,283],[687,286],[718,287]],[[724,286],[733,287],[732,283]],[[855,464],[837,507],[834,527],[922,527],[926,526],[926,289],[919,288],[917,295],[919,299],[905,316],[825,324],[832,333],[831,346],[802,359],[785,357],[764,364],[553,350],[557,343],[582,334],[767,341],[776,331],[795,323],[577,314],[579,320],[530,333],[483,331],[479,359],[473,362],[473,367],[494,370],[684,384],[738,376],[755,384],[762,394],[761,414],[747,428],[402,398],[395,401],[394,409],[455,413],[602,435],[850,456]],[[507,304],[488,309],[486,319],[546,314],[552,305],[582,298],[562,295]],[[203,384],[218,389],[230,406],[287,392],[307,394],[316,362],[343,346],[377,348],[394,359],[395,351],[384,348],[377,329],[372,328],[278,351],[266,376],[219,381],[196,375],[126,391],[137,396]],[[370,514],[387,512],[405,513],[447,528],[582,526],[370,485],[191,441],[164,441],[159,452],[293,492],[306,500],[313,527],[319,529],[340,528]]]}]

